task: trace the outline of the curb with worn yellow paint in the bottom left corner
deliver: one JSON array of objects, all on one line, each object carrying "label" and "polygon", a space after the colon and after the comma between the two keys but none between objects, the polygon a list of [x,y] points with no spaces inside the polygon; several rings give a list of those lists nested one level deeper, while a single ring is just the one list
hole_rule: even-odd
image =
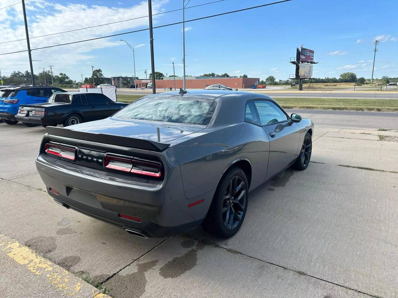
[{"label": "curb with worn yellow paint in the bottom left corner", "polygon": [[[110,298],[110,296],[100,293],[91,284],[86,283],[59,265],[37,255],[27,246],[3,234],[0,234],[0,257],[1,255],[10,257],[16,263],[25,267],[32,275],[45,275],[47,282],[51,284],[54,290],[62,293],[64,297],[80,298],[82,297],[80,296],[82,287],[86,290],[89,287],[92,290],[93,298]],[[87,297],[87,292],[84,297]]]}]

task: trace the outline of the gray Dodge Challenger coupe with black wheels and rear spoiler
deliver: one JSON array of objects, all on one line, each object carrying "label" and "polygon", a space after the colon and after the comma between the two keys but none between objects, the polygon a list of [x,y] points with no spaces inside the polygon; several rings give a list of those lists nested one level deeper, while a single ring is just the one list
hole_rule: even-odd
[{"label": "gray Dodge Challenger coupe with black wheels and rear spoiler", "polygon": [[236,234],[249,192],[311,158],[314,124],[238,91],[145,96],[113,116],[47,127],[36,159],[60,205],[140,237]]}]

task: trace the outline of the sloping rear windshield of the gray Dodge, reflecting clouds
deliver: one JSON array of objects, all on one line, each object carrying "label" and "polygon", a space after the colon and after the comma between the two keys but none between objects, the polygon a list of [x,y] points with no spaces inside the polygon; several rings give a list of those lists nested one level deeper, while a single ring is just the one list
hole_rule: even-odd
[{"label": "sloping rear windshield of the gray Dodge, reflecting clouds", "polygon": [[211,99],[144,97],[120,110],[113,117],[207,125],[216,104],[216,101]]}]

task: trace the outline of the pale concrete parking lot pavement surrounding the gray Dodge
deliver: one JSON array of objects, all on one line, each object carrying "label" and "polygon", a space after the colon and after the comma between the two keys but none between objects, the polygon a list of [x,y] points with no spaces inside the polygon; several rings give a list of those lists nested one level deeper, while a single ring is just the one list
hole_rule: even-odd
[{"label": "pale concrete parking lot pavement surrounding the gray Dodge", "polygon": [[[142,239],[58,205],[35,168],[45,129],[0,123],[0,234],[117,298],[397,297],[398,131],[378,129],[398,114],[298,112],[315,123],[312,162],[254,190],[228,240]],[[0,251],[5,296],[69,290]]]}]

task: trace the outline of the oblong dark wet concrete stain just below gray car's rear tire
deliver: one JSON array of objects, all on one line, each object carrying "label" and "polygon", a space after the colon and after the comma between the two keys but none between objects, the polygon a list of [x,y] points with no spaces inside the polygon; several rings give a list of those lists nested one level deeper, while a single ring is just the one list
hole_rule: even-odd
[{"label": "oblong dark wet concrete stain just below gray car's rear tire", "polygon": [[159,269],[160,276],[162,276],[165,279],[167,278],[174,279],[183,275],[185,272],[191,270],[193,267],[196,266],[197,263],[197,251],[203,250],[205,246],[206,244],[204,242],[199,241],[196,243],[196,248],[189,250],[180,257],[174,257],[171,261],[168,261],[168,263],[160,267]]}]

